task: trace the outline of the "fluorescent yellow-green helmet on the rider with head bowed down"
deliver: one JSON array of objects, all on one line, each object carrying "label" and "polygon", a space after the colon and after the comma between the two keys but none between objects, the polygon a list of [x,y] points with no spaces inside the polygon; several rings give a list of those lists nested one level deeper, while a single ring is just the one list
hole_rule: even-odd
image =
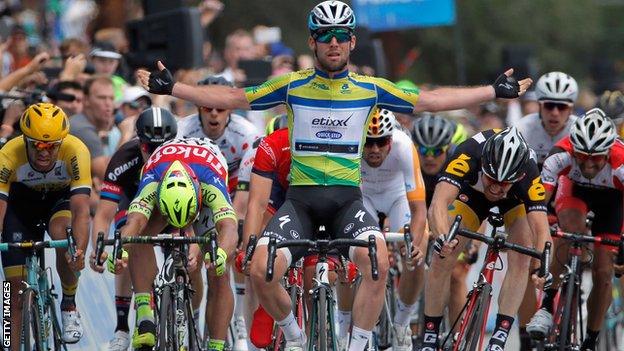
[{"label": "fluorescent yellow-green helmet on the rider with head bowed down", "polygon": [[193,170],[174,161],[158,186],[158,208],[167,222],[176,228],[192,223],[199,213],[201,192]]}]

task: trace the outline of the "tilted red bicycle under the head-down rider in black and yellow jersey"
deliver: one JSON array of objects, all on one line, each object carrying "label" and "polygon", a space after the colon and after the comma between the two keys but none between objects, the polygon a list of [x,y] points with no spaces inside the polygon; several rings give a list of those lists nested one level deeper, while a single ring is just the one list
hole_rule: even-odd
[{"label": "tilted red bicycle under the head-down rider in black and yellow jersey", "polygon": [[[488,222],[492,225],[491,235],[484,236],[477,232],[473,232],[464,228],[459,228],[461,216],[456,216],[451,225],[447,242],[452,241],[457,235],[479,240],[488,246],[483,267],[479,273],[479,278],[474,282],[472,290],[468,292],[467,301],[460,313],[460,317],[455,320],[451,332],[446,336],[442,345],[449,342],[452,330],[456,330],[457,323],[458,332],[453,338],[450,349],[453,351],[474,351],[483,349],[483,339],[485,336],[485,327],[487,325],[487,316],[492,299],[492,282],[494,272],[501,270],[496,265],[500,261],[500,252],[504,249],[513,250],[523,255],[537,258],[541,261],[540,277],[548,275],[548,262],[550,261],[551,243],[547,242],[543,252],[536,251],[518,244],[508,243],[506,235],[499,233],[496,228],[503,225],[503,218],[497,213],[490,212]],[[461,319],[461,322],[460,322]],[[446,349],[446,348],[445,348]]]}]

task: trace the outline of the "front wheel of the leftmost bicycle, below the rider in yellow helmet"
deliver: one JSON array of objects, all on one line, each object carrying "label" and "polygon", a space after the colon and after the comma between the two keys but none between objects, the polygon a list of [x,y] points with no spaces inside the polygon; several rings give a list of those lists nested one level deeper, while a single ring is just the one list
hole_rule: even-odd
[{"label": "front wheel of the leftmost bicycle, below the rider in yellow helmet", "polygon": [[43,345],[41,321],[42,316],[37,306],[37,293],[33,289],[27,288],[22,293],[21,341],[25,350],[47,351]]}]

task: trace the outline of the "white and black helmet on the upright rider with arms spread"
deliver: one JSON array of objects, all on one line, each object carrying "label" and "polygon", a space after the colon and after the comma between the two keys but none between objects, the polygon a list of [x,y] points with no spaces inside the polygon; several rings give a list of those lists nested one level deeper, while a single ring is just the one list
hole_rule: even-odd
[{"label": "white and black helmet on the upright rider with arms spread", "polygon": [[310,11],[308,29],[311,32],[336,27],[355,29],[355,15],[349,5],[342,1],[323,1]]}]

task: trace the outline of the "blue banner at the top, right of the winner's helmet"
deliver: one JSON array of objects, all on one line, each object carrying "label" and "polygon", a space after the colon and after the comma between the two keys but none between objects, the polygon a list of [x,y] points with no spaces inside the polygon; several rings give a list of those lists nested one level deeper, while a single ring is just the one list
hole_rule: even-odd
[{"label": "blue banner at the top, right of the winner's helmet", "polygon": [[353,9],[373,32],[455,24],[455,0],[353,0]]}]

